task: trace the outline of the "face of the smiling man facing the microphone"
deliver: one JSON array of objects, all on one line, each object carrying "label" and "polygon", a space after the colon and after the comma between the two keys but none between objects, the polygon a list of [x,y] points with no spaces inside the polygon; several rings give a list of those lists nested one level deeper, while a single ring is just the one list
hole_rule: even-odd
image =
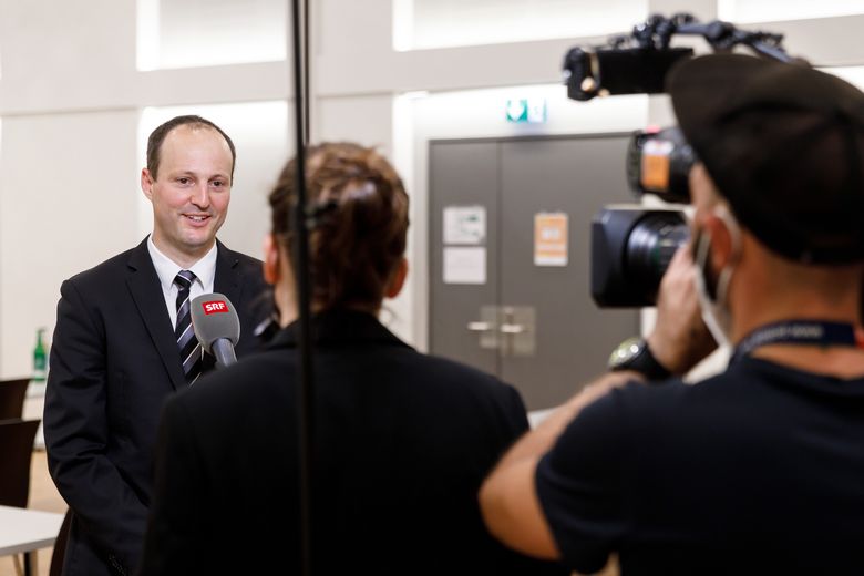
[{"label": "face of the smiling man facing the microphone", "polygon": [[225,222],[232,165],[222,134],[184,124],[162,143],[157,174],[141,172],[141,188],[153,204],[153,243],[184,268],[207,254]]}]

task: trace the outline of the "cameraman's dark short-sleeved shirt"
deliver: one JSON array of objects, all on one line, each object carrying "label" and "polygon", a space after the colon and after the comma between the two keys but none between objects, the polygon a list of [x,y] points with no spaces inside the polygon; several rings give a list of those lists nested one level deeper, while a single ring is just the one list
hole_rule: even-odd
[{"label": "cameraman's dark short-sleeved shirt", "polygon": [[567,426],[536,483],[582,573],[617,552],[625,575],[864,574],[864,379],[744,358],[629,384]]}]

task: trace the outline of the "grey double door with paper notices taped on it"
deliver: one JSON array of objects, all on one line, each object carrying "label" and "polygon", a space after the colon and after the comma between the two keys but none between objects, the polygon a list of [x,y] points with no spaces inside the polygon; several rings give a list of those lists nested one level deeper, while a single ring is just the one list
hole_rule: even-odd
[{"label": "grey double door with paper notices taped on it", "polygon": [[589,287],[593,216],[634,202],[627,141],[430,143],[432,353],[514,384],[529,410],[562,403],[605,371],[639,326],[637,310],[598,309]]}]

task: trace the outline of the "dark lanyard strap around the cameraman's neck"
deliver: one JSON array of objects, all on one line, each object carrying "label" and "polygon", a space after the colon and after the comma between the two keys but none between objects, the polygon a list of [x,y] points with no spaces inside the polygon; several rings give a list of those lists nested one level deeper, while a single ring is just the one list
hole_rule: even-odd
[{"label": "dark lanyard strap around the cameraman's neck", "polygon": [[783,320],[761,326],[736,347],[731,361],[768,344],[845,346],[864,349],[864,331],[848,322]]}]

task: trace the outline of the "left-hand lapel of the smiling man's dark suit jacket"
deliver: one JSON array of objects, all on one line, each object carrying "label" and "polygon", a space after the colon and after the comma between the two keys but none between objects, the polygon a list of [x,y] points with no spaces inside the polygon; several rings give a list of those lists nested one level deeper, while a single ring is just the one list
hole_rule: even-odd
[{"label": "left-hand lapel of the smiling man's dark suit jacket", "polygon": [[[174,341],[174,330],[165,308],[165,297],[162,295],[160,279],[147,251],[146,239],[132,251],[128,267],[131,274],[126,285],[153,344],[162,358],[162,363],[165,364],[165,370],[171,377],[171,383],[175,390],[186,388],[177,342]],[[218,266],[216,269],[218,270]]]}]

